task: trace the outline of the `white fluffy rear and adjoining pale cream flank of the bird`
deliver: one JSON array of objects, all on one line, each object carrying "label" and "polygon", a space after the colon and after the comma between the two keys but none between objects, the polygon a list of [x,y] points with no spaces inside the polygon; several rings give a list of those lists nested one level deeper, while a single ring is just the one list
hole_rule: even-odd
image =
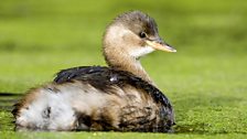
[{"label": "white fluffy rear and adjoining pale cream flank of the bird", "polygon": [[85,84],[63,84],[56,88],[60,92],[40,88],[36,98],[28,104],[28,109],[21,108],[17,124],[34,129],[72,130],[76,113],[92,115],[94,108],[100,108],[106,103],[103,93]]}]

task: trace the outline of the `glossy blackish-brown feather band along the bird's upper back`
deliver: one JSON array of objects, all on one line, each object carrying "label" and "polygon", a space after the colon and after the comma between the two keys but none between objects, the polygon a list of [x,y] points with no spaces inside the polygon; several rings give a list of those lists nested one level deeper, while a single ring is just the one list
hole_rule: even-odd
[{"label": "glossy blackish-brown feather band along the bird's upper back", "polygon": [[151,95],[151,97],[157,103],[161,103],[163,106],[172,109],[169,99],[161,90],[129,72],[116,71],[114,68],[105,66],[79,66],[68,70],[62,70],[56,74],[54,82],[57,84],[63,84],[66,82],[72,82],[74,79],[86,82],[104,92],[110,88],[111,85],[121,87],[125,84],[128,84],[135,86],[138,89],[146,90],[146,93]]}]

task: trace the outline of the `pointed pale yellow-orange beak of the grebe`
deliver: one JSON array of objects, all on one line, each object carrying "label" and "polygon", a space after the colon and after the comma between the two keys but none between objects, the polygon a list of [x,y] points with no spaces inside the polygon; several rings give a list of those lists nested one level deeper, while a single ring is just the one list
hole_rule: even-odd
[{"label": "pointed pale yellow-orange beak of the grebe", "polygon": [[159,40],[146,40],[146,44],[153,47],[154,50],[165,51],[165,52],[176,52],[175,49],[164,43],[161,39]]}]

